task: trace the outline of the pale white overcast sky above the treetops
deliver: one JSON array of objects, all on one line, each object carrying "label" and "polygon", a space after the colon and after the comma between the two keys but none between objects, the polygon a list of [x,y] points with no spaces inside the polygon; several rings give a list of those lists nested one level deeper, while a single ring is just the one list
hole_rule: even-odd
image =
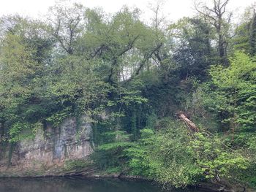
[{"label": "pale white overcast sky above the treetops", "polygon": [[[138,7],[142,10],[143,19],[151,18],[150,4],[156,4],[157,0],[66,0],[80,2],[86,7],[102,7],[105,12],[116,12],[124,5]],[[193,0],[164,0],[163,12],[168,20],[177,20],[184,16],[191,16],[195,12]],[[211,1],[211,0],[205,0]],[[230,10],[238,13],[244,7],[251,5],[256,0],[230,0],[228,5]],[[20,15],[31,16],[34,18],[45,15],[48,7],[55,4],[55,0],[0,0],[0,16],[18,13]]]}]

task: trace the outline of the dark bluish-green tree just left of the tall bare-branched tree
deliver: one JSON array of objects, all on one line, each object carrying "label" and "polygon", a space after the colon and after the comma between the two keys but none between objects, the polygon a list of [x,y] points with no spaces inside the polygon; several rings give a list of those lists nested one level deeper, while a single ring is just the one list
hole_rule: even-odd
[{"label": "dark bluish-green tree just left of the tall bare-branched tree", "polygon": [[169,27],[176,46],[173,58],[178,64],[174,69],[182,80],[197,77],[206,80],[206,70],[216,60],[211,41],[214,39],[211,26],[201,18],[183,18]]}]

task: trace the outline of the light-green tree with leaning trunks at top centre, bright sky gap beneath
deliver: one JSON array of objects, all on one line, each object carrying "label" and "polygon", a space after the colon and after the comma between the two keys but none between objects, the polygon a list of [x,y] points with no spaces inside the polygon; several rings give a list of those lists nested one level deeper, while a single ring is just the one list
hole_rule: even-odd
[{"label": "light-green tree with leaning trunks at top centre, bright sky gap beneath", "polygon": [[138,76],[162,46],[152,41],[153,31],[139,20],[138,9],[124,7],[108,22],[97,11],[87,14],[89,23],[81,47],[90,51],[87,57],[102,60],[104,71],[108,69],[105,81],[110,84]]}]

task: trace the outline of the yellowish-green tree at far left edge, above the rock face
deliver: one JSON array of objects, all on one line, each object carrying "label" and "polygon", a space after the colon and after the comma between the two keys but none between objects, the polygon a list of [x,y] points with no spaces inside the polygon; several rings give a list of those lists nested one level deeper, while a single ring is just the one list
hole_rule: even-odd
[{"label": "yellowish-green tree at far left edge, above the rock face", "polygon": [[[18,122],[31,118],[26,104],[33,104],[34,90],[37,87],[39,75],[37,71],[42,69],[32,55],[34,51],[24,44],[22,39],[13,34],[7,34],[2,40],[0,52],[0,100],[1,123],[8,121],[11,137],[15,140],[19,131],[25,126],[14,127]],[[31,105],[32,106],[32,105]],[[13,129],[12,129],[13,128]]]}]

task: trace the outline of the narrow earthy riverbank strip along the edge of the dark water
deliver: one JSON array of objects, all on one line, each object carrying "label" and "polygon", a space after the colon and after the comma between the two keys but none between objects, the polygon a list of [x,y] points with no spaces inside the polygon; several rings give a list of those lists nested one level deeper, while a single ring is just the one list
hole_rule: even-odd
[{"label": "narrow earthy riverbank strip along the edge of the dark water", "polygon": [[[51,172],[42,173],[38,171],[27,170],[26,172],[18,172],[18,170],[10,169],[8,172],[0,172],[0,179],[3,178],[28,178],[28,179],[37,179],[37,178],[47,178],[47,177],[54,177],[54,178],[61,178],[61,177],[79,177],[80,179],[83,178],[84,180],[105,180],[105,179],[113,179],[113,180],[124,180],[124,181],[134,181],[134,182],[149,182],[155,183],[158,185],[154,180],[149,180],[145,177],[140,177],[136,175],[127,175],[123,173],[112,173],[108,174],[105,172],[97,172],[92,167],[87,169],[82,169],[80,172],[63,172],[63,168],[61,167],[53,167]],[[254,190],[249,188],[244,188],[241,185],[227,185],[227,183],[198,183],[197,185],[188,186],[188,189],[192,190],[200,190],[205,192],[253,192]]]}]

